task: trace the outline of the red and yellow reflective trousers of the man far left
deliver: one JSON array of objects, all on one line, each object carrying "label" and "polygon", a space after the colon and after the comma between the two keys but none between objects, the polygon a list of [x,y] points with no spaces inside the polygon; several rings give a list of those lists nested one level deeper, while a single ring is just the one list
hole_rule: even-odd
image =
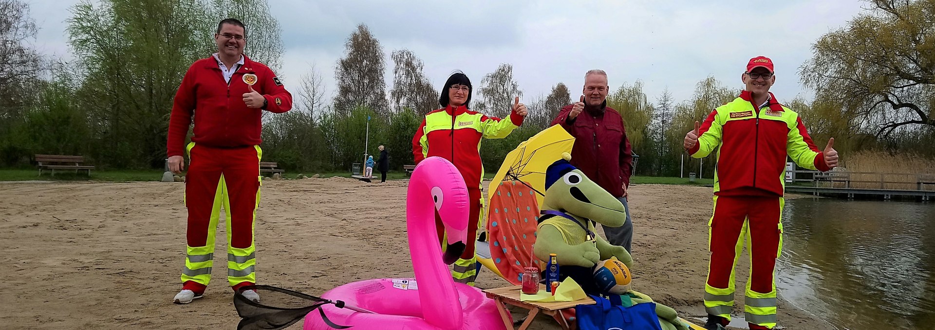
[{"label": "red and yellow reflective trousers of the man far left", "polygon": [[202,293],[214,265],[214,231],[223,207],[227,233],[227,282],[234,290],[256,283],[253,223],[260,202],[259,145],[188,145],[191,165],[185,180],[188,246],[182,289]]}]

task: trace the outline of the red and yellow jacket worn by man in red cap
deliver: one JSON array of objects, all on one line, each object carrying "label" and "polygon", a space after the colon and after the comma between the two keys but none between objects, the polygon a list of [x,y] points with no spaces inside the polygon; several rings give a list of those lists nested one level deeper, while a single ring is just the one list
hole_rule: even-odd
[{"label": "red and yellow jacket worn by man in red cap", "polygon": [[775,100],[770,93],[769,105],[760,108],[743,91],[701,124],[698,144],[688,154],[703,158],[717,148],[715,195],[783,196],[786,155],[806,169],[829,170],[802,119]]}]

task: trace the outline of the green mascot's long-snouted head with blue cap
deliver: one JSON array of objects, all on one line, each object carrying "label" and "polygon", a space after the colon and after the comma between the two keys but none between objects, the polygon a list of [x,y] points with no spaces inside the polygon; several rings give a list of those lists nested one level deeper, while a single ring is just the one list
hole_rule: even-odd
[{"label": "green mascot's long-snouted head with blue cap", "polygon": [[554,162],[546,172],[542,209],[564,211],[604,226],[624,226],[624,204],[572,166],[568,153],[562,156],[564,159]]}]

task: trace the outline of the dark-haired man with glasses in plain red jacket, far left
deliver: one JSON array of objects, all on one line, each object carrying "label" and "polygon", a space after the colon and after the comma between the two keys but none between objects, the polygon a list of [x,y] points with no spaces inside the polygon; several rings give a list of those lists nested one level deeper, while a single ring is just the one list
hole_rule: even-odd
[{"label": "dark-haired man with glasses in plain red jacket, far left", "polygon": [[[243,55],[246,28],[235,19],[218,23],[218,52],[201,59],[182,78],[169,119],[169,170],[185,170],[188,247],[177,304],[200,298],[211,277],[214,228],[223,205],[227,224],[227,281],[235,291],[256,283],[253,221],[260,202],[260,117],[284,113],[292,94],[266,65]],[[185,136],[194,115],[192,142]],[[246,290],[243,296],[259,301]]]}]

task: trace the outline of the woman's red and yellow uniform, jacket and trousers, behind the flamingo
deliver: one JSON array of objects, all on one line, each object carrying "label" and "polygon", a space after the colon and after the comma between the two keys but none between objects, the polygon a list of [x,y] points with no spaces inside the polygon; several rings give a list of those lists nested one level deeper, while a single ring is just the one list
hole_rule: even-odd
[{"label": "woman's red and yellow uniform, jacket and trousers, behind the flamingo", "polygon": [[[448,159],[461,172],[468,185],[471,200],[468,219],[477,219],[468,226],[468,242],[461,258],[454,262],[452,277],[455,282],[474,285],[477,279],[477,256],[474,244],[477,227],[482,222],[483,198],[481,196],[481,139],[502,139],[523,124],[525,117],[511,113],[510,118],[487,117],[471,111],[466,106],[447,106],[425,115],[425,119],[412,137],[412,156],[416,164],[424,158],[438,156]],[[476,186],[475,186],[476,185]],[[436,219],[439,238],[444,240],[444,227]]]}]

